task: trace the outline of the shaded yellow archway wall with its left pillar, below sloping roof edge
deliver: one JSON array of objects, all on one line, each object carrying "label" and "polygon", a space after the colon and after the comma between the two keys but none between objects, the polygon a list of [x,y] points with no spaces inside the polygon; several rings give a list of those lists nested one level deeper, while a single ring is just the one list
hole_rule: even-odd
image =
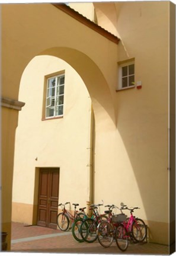
[{"label": "shaded yellow archway wall with its left pillar, below sloping roof edge", "polygon": [[[111,41],[52,4],[3,5],[1,14],[3,20],[1,116],[2,159],[4,159],[2,229],[9,233],[8,244],[10,244],[15,129],[18,126],[18,111],[23,105],[18,102],[18,92],[25,66],[37,55],[50,54],[66,60],[87,85],[94,104],[95,118],[98,117],[100,124],[105,120],[110,121],[110,126],[114,128],[116,123],[113,107],[116,94],[114,77],[117,72],[118,40],[116,38],[116,42]],[[57,49],[57,53],[54,49]],[[105,51],[102,55],[103,49]],[[81,62],[87,64],[87,69],[81,66]]]}]

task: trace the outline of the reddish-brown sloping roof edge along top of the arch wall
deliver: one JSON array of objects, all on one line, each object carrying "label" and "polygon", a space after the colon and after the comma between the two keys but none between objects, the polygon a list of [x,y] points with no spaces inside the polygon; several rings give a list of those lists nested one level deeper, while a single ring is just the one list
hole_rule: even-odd
[{"label": "reddish-brown sloping roof edge along top of the arch wall", "polygon": [[52,4],[56,8],[60,9],[61,11],[65,12],[66,14],[70,15],[71,17],[75,18],[82,24],[86,25],[87,27],[91,28],[92,30],[96,31],[97,33],[101,34],[101,36],[106,37],[108,40],[113,41],[113,43],[118,44],[120,39],[117,36],[114,36],[104,28],[100,27],[100,25],[95,24],[93,21],[88,20],[88,18],[84,17],[79,12],[75,11],[71,7],[66,4]]}]

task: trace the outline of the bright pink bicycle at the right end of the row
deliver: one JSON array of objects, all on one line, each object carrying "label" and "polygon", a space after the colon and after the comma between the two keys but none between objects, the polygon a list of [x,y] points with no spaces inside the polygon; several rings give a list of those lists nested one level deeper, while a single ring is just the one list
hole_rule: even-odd
[{"label": "bright pink bicycle at the right end of the row", "polygon": [[128,208],[126,205],[121,203],[121,210],[129,210],[130,217],[126,222],[123,223],[127,234],[131,239],[135,239],[136,242],[143,242],[147,235],[147,228],[145,222],[138,217],[133,216],[135,209],[140,209],[139,207]]}]

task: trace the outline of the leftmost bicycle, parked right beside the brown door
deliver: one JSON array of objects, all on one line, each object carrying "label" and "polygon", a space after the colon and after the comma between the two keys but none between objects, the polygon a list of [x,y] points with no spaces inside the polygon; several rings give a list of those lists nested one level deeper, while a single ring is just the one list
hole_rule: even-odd
[{"label": "leftmost bicycle, parked right beside the brown door", "polygon": [[70,202],[66,202],[65,204],[60,203],[58,205],[62,207],[62,212],[60,212],[57,215],[57,226],[61,231],[67,231],[69,229],[70,224],[72,223],[73,225],[73,222],[75,222],[75,220],[78,219],[78,217],[80,218],[86,215],[84,212],[84,209],[86,207],[79,209],[81,212],[78,213],[76,207],[79,206],[79,204],[73,203],[73,206],[75,206],[75,210],[74,214],[72,215],[72,213],[65,208],[66,204],[71,205]]}]

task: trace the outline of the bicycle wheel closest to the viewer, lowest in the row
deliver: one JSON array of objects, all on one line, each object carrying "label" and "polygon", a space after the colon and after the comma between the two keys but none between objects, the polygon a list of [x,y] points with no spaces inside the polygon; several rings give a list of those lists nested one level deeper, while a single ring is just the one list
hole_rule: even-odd
[{"label": "bicycle wheel closest to the viewer, lowest in the row", "polygon": [[126,251],[129,245],[129,240],[127,237],[126,229],[121,224],[117,226],[115,239],[116,239],[117,247],[119,247],[121,251]]}]

